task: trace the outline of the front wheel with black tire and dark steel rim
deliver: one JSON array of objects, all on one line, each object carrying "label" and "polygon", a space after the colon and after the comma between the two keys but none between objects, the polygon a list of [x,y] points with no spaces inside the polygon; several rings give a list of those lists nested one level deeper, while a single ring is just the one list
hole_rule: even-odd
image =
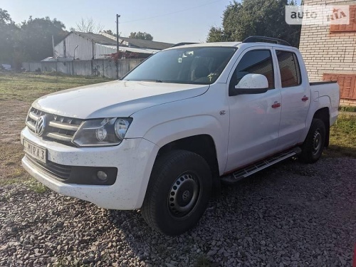
[{"label": "front wheel with black tire and dark steel rim", "polygon": [[199,155],[173,150],[153,166],[142,216],[152,229],[177,236],[204,214],[211,192],[209,165]]}]

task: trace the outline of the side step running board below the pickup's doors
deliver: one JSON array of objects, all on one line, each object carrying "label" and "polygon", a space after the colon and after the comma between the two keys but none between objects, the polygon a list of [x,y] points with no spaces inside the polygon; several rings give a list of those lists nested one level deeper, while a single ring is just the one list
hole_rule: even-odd
[{"label": "side step running board below the pickup's doors", "polygon": [[225,184],[234,184],[241,179],[244,179],[256,172],[261,171],[262,169],[266,169],[267,167],[272,166],[278,162],[281,162],[284,159],[288,159],[289,157],[297,156],[302,152],[300,147],[295,147],[293,150],[288,150],[282,152],[280,154],[274,155],[273,157],[268,157],[267,159],[261,160],[261,162],[257,162],[252,164],[244,169],[239,169],[238,171],[229,174],[227,176],[221,177],[221,182]]}]

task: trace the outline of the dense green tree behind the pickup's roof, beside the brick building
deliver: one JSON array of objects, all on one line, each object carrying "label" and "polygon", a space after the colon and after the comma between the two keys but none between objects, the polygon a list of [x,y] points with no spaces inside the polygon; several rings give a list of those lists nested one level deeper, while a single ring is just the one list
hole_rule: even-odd
[{"label": "dense green tree behind the pickup's roof, beside the brick building", "polygon": [[269,36],[299,46],[301,26],[288,25],[285,19],[288,0],[243,0],[232,2],[223,14],[222,27],[211,27],[207,42],[243,41],[248,36]]}]

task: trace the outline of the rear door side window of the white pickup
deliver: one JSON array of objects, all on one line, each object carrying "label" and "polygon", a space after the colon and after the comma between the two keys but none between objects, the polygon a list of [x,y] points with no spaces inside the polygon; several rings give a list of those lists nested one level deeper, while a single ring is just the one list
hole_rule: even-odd
[{"label": "rear door side window of the white pickup", "polygon": [[298,86],[302,83],[298,58],[293,52],[277,51],[282,87]]}]

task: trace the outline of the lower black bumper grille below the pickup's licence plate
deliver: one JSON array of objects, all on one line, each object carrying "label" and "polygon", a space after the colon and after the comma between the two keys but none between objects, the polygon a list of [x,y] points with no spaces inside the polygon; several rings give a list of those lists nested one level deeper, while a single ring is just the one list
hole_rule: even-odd
[{"label": "lower black bumper grille below the pickup's licence plate", "polygon": [[71,166],[61,165],[55,162],[47,161],[46,164],[26,155],[26,158],[36,167],[43,169],[46,172],[53,174],[56,179],[61,182],[65,182],[70,177],[70,172],[72,171]]}]

